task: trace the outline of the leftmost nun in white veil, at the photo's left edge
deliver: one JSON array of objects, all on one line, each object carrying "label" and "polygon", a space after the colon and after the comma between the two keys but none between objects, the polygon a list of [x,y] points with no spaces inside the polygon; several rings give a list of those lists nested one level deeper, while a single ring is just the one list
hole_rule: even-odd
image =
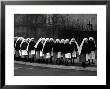
[{"label": "leftmost nun in white veil, at the photo's left edge", "polygon": [[15,44],[15,60],[20,60],[21,58],[21,51],[20,51],[20,45],[24,38],[18,37],[16,44]]}]

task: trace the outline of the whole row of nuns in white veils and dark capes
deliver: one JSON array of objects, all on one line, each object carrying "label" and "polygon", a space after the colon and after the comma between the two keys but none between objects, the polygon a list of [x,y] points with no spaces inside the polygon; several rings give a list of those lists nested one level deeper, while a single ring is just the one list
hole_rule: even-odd
[{"label": "whole row of nuns in white veils and dark capes", "polygon": [[31,63],[74,65],[75,61],[83,67],[94,64],[96,43],[93,37],[84,38],[81,45],[74,38],[53,39],[14,37],[14,60]]}]

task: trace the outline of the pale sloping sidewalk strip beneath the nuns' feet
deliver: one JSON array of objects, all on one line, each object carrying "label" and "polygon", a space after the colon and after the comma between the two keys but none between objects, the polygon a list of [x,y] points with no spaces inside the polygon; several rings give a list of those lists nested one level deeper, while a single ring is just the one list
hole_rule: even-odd
[{"label": "pale sloping sidewalk strip beneath the nuns' feet", "polygon": [[81,65],[65,66],[65,65],[53,65],[53,64],[40,64],[40,63],[30,63],[22,61],[14,61],[17,64],[39,66],[39,67],[48,67],[48,68],[59,68],[59,69],[74,69],[74,70],[86,70],[86,71],[97,71],[97,66],[91,65],[83,68]]}]

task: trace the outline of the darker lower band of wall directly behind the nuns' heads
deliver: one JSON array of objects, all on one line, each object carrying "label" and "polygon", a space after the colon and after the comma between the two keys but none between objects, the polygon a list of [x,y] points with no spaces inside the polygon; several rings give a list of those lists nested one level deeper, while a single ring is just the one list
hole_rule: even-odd
[{"label": "darker lower band of wall directly behind the nuns' heads", "polygon": [[53,26],[39,26],[39,27],[30,27],[30,26],[15,26],[15,36],[22,36],[24,38],[34,37],[38,40],[40,37],[45,38],[59,38],[59,39],[71,39],[75,38],[78,44],[80,45],[83,38],[85,37],[94,37],[97,42],[97,31],[81,31],[75,30],[75,28],[65,28],[65,27],[53,27]]}]

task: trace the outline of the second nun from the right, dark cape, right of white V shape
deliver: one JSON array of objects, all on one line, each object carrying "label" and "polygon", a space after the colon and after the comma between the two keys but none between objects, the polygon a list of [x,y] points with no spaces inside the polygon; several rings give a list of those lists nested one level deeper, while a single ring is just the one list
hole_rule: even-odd
[{"label": "second nun from the right, dark cape, right of white V shape", "polygon": [[88,39],[84,38],[82,43],[81,43],[81,53],[80,53],[80,59],[82,62],[82,67],[86,67],[86,55],[89,52],[89,45],[88,45]]}]

